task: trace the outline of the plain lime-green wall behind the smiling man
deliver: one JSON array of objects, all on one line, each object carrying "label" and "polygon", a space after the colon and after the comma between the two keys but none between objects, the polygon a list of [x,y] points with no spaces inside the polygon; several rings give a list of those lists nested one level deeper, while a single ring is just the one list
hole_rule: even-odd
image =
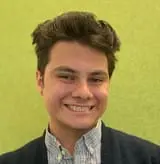
[{"label": "plain lime-green wall behind the smiling man", "polygon": [[159,0],[0,0],[0,153],[47,126],[30,34],[41,21],[69,10],[108,20],[122,41],[104,121],[160,144]]}]

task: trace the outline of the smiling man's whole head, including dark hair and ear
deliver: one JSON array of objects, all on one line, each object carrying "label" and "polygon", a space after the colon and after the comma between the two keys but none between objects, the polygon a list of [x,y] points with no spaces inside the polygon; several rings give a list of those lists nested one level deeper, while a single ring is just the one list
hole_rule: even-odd
[{"label": "smiling man's whole head, including dark hair and ear", "polygon": [[92,128],[107,105],[120,48],[115,31],[91,13],[68,12],[38,25],[32,37],[52,128]]}]

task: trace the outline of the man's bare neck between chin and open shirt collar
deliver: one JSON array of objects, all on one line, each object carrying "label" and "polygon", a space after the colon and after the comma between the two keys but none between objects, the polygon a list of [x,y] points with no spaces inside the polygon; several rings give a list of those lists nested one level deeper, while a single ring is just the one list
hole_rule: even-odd
[{"label": "man's bare neck between chin and open shirt collar", "polygon": [[52,122],[49,123],[49,128],[50,132],[56,137],[61,145],[69,151],[71,155],[74,153],[74,147],[78,139],[90,130],[71,129],[64,125],[58,126]]}]

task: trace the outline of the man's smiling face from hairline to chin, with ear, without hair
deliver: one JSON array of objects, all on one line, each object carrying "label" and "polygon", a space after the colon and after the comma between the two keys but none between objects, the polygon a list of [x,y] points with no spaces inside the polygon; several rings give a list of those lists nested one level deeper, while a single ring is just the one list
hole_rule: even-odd
[{"label": "man's smiling face from hairline to chin, with ear, without hair", "polygon": [[77,42],[60,41],[50,52],[44,83],[37,82],[57,127],[87,130],[106,109],[109,76],[104,53]]}]

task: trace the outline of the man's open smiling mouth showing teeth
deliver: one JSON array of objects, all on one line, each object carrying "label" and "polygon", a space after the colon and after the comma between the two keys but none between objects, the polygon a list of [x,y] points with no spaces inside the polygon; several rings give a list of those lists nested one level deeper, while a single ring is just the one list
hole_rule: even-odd
[{"label": "man's open smiling mouth showing teeth", "polygon": [[83,105],[69,105],[69,104],[64,104],[65,107],[67,107],[70,111],[73,112],[89,112],[93,110],[94,106],[83,106]]}]

